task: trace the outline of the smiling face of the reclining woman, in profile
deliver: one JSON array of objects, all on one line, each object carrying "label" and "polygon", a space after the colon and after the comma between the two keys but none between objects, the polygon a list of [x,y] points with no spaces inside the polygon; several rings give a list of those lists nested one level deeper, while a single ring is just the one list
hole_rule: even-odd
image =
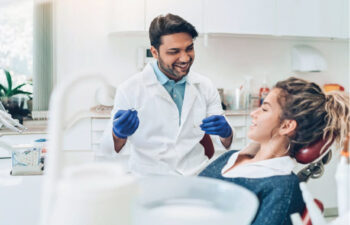
[{"label": "smiling face of the reclining woman, in profile", "polygon": [[250,116],[252,123],[249,127],[248,137],[259,143],[268,142],[280,127],[280,114],[282,109],[277,102],[279,89],[272,89],[266,96],[263,104],[254,110]]}]

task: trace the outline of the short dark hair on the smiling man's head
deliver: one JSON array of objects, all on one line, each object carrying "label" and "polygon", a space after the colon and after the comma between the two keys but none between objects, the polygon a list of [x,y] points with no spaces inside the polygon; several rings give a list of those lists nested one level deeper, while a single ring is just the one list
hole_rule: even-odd
[{"label": "short dark hair on the smiling man's head", "polygon": [[163,35],[182,32],[188,33],[193,39],[198,36],[196,28],[192,24],[177,15],[169,13],[166,16],[160,15],[153,19],[149,27],[149,39],[151,45],[159,49]]}]

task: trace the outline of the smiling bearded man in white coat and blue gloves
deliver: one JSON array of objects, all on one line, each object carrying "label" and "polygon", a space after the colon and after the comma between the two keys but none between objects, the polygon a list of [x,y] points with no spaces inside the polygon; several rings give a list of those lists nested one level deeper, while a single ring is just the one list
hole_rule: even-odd
[{"label": "smiling bearded man in white coat and blue gloves", "polygon": [[157,61],[118,87],[103,142],[113,142],[117,153],[129,148],[129,169],[137,175],[198,173],[208,161],[199,143],[204,133],[218,135],[227,149],[232,143],[217,89],[190,71],[197,36],[179,16],[156,17],[149,38]]}]

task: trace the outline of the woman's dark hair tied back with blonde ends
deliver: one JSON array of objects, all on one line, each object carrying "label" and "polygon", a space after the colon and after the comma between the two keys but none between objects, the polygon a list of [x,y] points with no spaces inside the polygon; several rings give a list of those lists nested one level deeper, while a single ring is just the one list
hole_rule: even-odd
[{"label": "woman's dark hair tied back with blonde ends", "polygon": [[281,121],[295,120],[297,128],[289,137],[290,155],[321,138],[342,144],[349,132],[349,96],[344,92],[323,93],[313,82],[295,77],[275,85],[280,89],[278,103]]}]

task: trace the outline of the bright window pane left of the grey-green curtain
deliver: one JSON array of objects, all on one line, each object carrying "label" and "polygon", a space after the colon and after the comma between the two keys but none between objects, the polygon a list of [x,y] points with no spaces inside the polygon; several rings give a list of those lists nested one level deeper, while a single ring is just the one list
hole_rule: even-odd
[{"label": "bright window pane left of the grey-green curtain", "polygon": [[[0,0],[0,67],[13,71],[13,82],[33,74],[33,2]],[[0,82],[6,82],[0,76]]]}]

